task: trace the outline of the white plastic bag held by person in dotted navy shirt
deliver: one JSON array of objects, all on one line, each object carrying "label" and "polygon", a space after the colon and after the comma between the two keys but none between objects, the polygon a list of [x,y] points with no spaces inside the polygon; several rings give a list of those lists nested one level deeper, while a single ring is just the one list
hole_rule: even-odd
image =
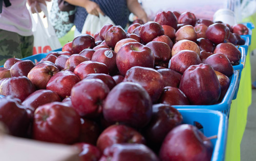
[{"label": "white plastic bag held by person in dotted navy shirt", "polygon": [[88,14],[86,21],[83,24],[81,33],[94,36],[94,34],[99,32],[102,26],[106,23],[115,25],[115,23],[110,19],[109,16],[103,16],[100,13],[99,17],[92,14]]}]

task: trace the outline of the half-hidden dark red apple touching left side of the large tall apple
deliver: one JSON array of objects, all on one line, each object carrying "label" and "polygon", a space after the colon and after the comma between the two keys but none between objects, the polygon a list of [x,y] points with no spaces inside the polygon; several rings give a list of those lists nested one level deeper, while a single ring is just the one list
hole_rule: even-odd
[{"label": "half-hidden dark red apple touching left side of the large tall apple", "polygon": [[157,70],[163,76],[164,87],[179,87],[181,74],[172,69],[158,69]]}]

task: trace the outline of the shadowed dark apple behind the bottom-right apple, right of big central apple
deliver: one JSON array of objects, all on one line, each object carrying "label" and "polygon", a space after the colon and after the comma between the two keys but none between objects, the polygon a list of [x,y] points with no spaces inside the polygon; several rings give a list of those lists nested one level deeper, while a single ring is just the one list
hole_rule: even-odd
[{"label": "shadowed dark apple behind the bottom-right apple, right of big central apple", "polygon": [[160,148],[167,133],[182,122],[183,117],[177,109],[168,104],[154,104],[152,119],[144,130],[148,144],[153,149]]}]

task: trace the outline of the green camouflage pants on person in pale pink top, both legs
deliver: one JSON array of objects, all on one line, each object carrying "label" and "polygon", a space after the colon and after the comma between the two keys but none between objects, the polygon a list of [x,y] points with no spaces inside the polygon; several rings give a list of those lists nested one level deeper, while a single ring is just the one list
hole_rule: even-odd
[{"label": "green camouflage pants on person in pale pink top, both legs", "polygon": [[32,55],[34,37],[20,36],[17,33],[0,29],[0,66],[5,61],[15,58],[25,58]]}]

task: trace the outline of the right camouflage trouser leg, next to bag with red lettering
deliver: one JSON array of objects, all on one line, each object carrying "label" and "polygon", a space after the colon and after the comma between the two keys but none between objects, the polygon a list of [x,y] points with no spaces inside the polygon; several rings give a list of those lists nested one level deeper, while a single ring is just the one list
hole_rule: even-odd
[{"label": "right camouflage trouser leg, next to bag with red lettering", "polygon": [[34,46],[34,36],[22,36],[22,56],[23,58],[32,56]]}]

